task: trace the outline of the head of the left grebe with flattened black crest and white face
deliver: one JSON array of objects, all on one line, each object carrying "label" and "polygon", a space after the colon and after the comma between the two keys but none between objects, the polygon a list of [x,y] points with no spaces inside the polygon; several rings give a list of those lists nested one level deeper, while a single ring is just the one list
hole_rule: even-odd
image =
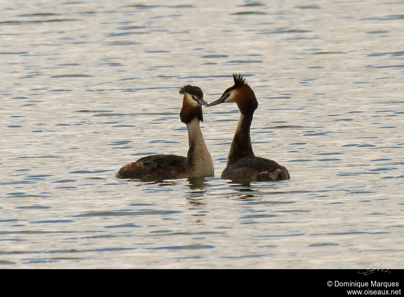
[{"label": "head of the left grebe with flattened black crest and white face", "polygon": [[188,124],[194,117],[204,122],[201,105],[208,105],[204,100],[204,92],[197,86],[186,85],[180,89],[179,93],[184,95],[180,112],[181,122]]}]

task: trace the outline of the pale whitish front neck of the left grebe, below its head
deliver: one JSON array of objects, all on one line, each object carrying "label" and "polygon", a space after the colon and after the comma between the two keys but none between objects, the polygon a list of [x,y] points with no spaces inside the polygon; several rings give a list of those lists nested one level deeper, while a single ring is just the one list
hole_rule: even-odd
[{"label": "pale whitish front neck of the left grebe, below its head", "polygon": [[212,157],[206,147],[202,131],[200,131],[198,118],[192,118],[191,122],[186,124],[186,128],[189,141],[187,155],[189,177],[214,176]]}]

